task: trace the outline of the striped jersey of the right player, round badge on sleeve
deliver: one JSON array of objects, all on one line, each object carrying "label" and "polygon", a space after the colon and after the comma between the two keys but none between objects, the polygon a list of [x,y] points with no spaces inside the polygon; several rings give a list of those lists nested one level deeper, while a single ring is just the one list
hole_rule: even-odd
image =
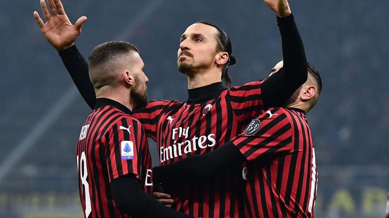
[{"label": "striped jersey of the right player, round badge on sleeve", "polygon": [[246,217],[314,217],[318,171],[302,110],[270,108],[232,142],[249,160]]}]

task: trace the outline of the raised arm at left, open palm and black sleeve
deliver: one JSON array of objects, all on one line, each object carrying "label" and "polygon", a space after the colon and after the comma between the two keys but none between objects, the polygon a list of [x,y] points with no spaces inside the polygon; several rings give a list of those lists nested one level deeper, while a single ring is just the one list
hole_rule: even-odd
[{"label": "raised arm at left, open palm and black sleeve", "polygon": [[96,95],[89,79],[88,64],[74,45],[87,17],[80,17],[73,25],[60,0],[48,0],[48,4],[49,8],[45,0],[41,0],[42,12],[47,22],[44,23],[36,11],[34,11],[35,20],[47,41],[59,52],[77,89],[88,105],[93,108]]}]

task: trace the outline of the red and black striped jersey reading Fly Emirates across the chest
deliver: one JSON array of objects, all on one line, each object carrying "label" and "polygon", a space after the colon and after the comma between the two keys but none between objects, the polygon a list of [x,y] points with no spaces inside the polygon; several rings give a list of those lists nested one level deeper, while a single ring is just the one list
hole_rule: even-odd
[{"label": "red and black striped jersey reading Fly Emirates across the chest", "polygon": [[[263,111],[262,82],[220,90],[203,102],[150,101],[133,116],[157,142],[160,165],[167,165],[209,152],[241,133]],[[215,86],[222,87],[221,83],[208,87]],[[243,217],[241,172],[237,166],[211,181],[180,187],[163,184],[164,191],[172,195],[174,209],[195,217]]]}]

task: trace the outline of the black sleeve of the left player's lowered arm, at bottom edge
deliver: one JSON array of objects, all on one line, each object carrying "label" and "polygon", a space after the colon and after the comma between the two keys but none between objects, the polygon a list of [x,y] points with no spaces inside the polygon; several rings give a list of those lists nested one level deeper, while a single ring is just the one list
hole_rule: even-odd
[{"label": "black sleeve of the left player's lowered arm, at bottom edge", "polygon": [[135,218],[188,218],[192,217],[175,211],[146,194],[139,187],[135,175],[121,176],[110,183],[113,200],[121,212]]}]

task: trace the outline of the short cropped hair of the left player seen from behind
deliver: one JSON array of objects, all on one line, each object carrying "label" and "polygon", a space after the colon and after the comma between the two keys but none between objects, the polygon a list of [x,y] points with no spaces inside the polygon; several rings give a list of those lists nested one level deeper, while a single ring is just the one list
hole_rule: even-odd
[{"label": "short cropped hair of the left player seen from behind", "polygon": [[109,41],[96,46],[88,58],[89,77],[93,86],[99,89],[114,85],[116,77],[112,70],[130,52],[139,53],[135,45],[124,41]]}]

